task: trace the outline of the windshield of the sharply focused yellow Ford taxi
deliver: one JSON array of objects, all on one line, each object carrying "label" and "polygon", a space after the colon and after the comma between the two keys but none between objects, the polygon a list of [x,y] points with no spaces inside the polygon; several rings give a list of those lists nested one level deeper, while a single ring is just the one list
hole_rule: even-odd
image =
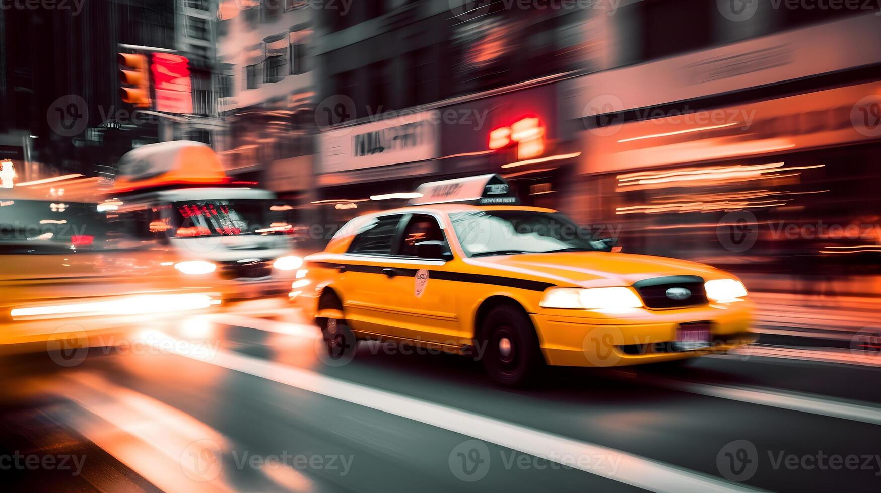
[{"label": "windshield of the sharply focused yellow Ford taxi", "polygon": [[450,214],[449,218],[470,257],[609,249],[591,236],[589,228],[557,212],[476,210]]}]

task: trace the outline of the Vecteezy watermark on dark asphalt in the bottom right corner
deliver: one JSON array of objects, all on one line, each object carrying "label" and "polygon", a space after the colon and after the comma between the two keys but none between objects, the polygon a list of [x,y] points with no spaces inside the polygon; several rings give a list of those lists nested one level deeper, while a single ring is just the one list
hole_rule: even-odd
[{"label": "Vecteezy watermark on dark asphalt in the bottom right corner", "polygon": [[759,450],[749,440],[731,441],[716,454],[716,467],[725,479],[733,482],[749,481],[766,467],[778,471],[872,471],[881,476],[881,454],[878,453],[789,453],[786,450]]}]

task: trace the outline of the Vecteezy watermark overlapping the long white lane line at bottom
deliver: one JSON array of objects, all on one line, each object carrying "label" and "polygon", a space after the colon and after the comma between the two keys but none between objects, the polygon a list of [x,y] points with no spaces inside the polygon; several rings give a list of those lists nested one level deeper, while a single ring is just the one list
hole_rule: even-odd
[{"label": "Vecteezy watermark overlapping the long white lane line at bottom", "polygon": [[621,455],[615,453],[558,453],[549,451],[541,455],[521,453],[515,450],[499,451],[499,461],[492,460],[489,447],[481,440],[470,439],[455,445],[448,456],[449,470],[463,482],[478,482],[490,472],[492,464],[506,471],[511,470],[592,470],[613,476],[618,472]]}]

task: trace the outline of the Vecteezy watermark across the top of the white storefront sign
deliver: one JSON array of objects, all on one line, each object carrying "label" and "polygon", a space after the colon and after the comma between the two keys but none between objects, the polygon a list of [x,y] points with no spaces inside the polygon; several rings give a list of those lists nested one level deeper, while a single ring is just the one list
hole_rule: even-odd
[{"label": "Vecteezy watermark across the top of the white storefront sign", "polygon": [[[366,121],[381,121],[389,127],[402,127],[428,123],[430,125],[466,125],[478,131],[484,128],[488,109],[478,108],[439,108],[426,112],[408,112],[385,110],[383,107],[364,107]],[[352,98],[336,94],[322,100],[315,107],[315,124],[325,132],[333,132],[335,136],[345,135],[354,127],[335,128],[335,126],[354,121],[358,118],[358,108]]]}]

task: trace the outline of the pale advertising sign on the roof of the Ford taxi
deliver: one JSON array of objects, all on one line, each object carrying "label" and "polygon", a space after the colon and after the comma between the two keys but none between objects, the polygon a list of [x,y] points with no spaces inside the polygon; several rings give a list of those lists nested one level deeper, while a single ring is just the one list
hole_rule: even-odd
[{"label": "pale advertising sign on the roof of the Ford taxi", "polygon": [[454,180],[429,181],[419,185],[416,191],[422,196],[413,198],[408,205],[430,203],[473,202],[478,205],[518,205],[511,185],[499,174],[481,174]]}]

